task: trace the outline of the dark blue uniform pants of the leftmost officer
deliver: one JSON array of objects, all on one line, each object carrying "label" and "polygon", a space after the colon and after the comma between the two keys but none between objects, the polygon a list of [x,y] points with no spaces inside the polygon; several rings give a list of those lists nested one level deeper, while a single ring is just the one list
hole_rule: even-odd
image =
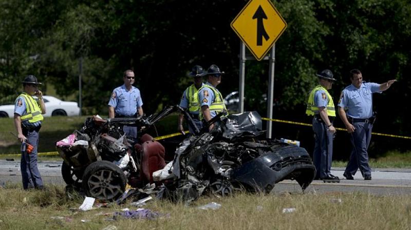
[{"label": "dark blue uniform pants of the leftmost officer", "polygon": [[[37,167],[37,146],[39,145],[39,130],[25,130],[23,135],[27,138],[27,143],[33,146],[31,154],[27,151],[22,152],[20,170],[22,172],[23,188],[43,187],[43,181]],[[27,146],[26,146],[27,149]]]}]

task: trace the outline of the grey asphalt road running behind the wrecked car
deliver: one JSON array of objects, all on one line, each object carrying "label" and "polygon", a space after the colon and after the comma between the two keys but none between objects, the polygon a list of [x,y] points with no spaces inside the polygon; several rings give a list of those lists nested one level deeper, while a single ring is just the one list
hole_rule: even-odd
[{"label": "grey asphalt road running behind the wrecked car", "polygon": [[[41,161],[39,170],[45,184],[62,184],[62,161]],[[360,172],[354,180],[345,180],[344,168],[332,168],[334,176],[342,178],[340,183],[324,183],[313,181],[305,193],[354,193],[363,192],[375,195],[411,194],[411,169],[374,169],[372,180],[365,181]],[[6,183],[21,183],[20,162],[0,160],[0,185]],[[295,181],[282,181],[275,185],[273,193],[302,193],[300,185]]]}]

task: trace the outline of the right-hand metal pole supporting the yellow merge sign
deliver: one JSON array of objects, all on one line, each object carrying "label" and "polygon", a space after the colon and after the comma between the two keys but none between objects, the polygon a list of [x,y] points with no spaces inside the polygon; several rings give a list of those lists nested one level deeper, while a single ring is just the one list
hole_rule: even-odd
[{"label": "right-hand metal pole supporting the yellow merge sign", "polygon": [[[274,64],[275,64],[275,44],[271,48],[270,55],[270,70],[268,78],[268,94],[267,94],[267,118],[273,118],[273,99],[274,99]],[[272,121],[267,121],[266,137],[271,138]]]}]

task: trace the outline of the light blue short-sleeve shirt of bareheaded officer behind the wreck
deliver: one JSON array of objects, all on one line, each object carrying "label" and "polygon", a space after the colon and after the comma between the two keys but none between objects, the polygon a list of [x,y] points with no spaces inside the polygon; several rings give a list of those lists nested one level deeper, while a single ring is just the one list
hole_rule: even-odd
[{"label": "light blue short-sleeve shirt of bareheaded officer behind the wreck", "polygon": [[115,113],[122,116],[134,116],[137,108],[143,106],[140,90],[134,86],[128,91],[125,85],[117,87],[111,93],[109,106],[115,108]]}]

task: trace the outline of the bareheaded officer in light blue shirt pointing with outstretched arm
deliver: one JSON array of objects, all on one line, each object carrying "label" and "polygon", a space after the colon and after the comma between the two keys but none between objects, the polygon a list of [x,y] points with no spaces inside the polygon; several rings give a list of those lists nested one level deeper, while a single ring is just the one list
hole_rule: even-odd
[{"label": "bareheaded officer in light blue shirt pointing with outstretched arm", "polygon": [[389,80],[383,84],[363,82],[361,71],[350,71],[351,85],[347,86],[340,96],[339,114],[348,133],[351,135],[352,151],[350,160],[344,171],[347,180],[353,180],[353,175],[360,168],[364,180],[371,180],[371,168],[368,164],[368,146],[371,140],[372,124],[372,93],[387,90],[397,80]]}]

